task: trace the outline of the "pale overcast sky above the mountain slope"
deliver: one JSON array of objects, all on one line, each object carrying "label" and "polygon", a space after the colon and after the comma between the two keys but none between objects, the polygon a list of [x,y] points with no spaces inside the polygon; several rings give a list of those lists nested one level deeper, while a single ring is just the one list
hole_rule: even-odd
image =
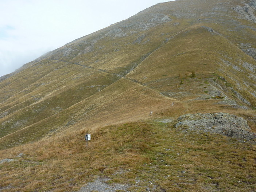
[{"label": "pale overcast sky above the mountain slope", "polygon": [[0,77],[166,1],[170,0],[0,0]]}]

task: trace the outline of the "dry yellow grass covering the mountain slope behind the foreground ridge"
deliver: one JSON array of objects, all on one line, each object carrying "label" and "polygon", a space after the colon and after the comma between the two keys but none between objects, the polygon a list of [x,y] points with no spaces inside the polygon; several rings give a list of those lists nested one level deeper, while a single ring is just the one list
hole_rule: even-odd
[{"label": "dry yellow grass covering the mountain slope behind the foreground ridge", "polygon": [[[3,115],[0,123],[5,132],[1,132],[0,136],[5,137],[0,139],[0,148],[35,141],[66,129],[93,128],[144,119],[150,111],[160,114],[163,110],[170,110],[168,114],[178,116],[180,113],[172,113],[169,107],[174,99],[179,103],[178,111],[186,108],[189,102],[195,104],[188,104],[193,111],[202,109],[197,105],[205,106],[209,111],[211,108],[226,110],[206,101],[216,96],[212,93],[214,89],[223,89],[227,97],[238,105],[245,105],[232,91],[237,90],[254,105],[255,98],[251,94],[255,90],[253,80],[235,68],[241,67],[237,66],[236,60],[252,64],[255,60],[237,48],[236,38],[210,33],[202,27],[214,27],[226,34],[227,26],[170,17],[173,19],[171,23],[148,31],[119,38],[101,38],[94,44],[95,50],[86,54],[74,53],[70,58],[63,55],[60,58],[61,50],[66,48],[62,47],[48,59],[38,62],[42,68],[32,65],[1,82],[0,90],[4,93],[1,101],[5,99],[5,102],[0,107],[0,115]],[[178,26],[174,25],[176,21]],[[98,35],[102,35],[102,31],[68,46],[81,49],[87,45],[84,42],[86,39],[93,42]],[[133,43],[141,35],[150,40]],[[246,37],[249,37],[248,34]],[[130,44],[124,46],[127,42]],[[113,47],[120,51],[113,51]],[[227,67],[225,62],[236,67]],[[193,71],[195,77],[191,77]],[[243,71],[250,74],[246,67]],[[120,75],[124,78],[120,79]],[[219,76],[226,81],[218,79]],[[30,77],[28,81],[27,77]],[[194,99],[201,101],[194,103]],[[183,111],[186,112],[186,109]]]}]

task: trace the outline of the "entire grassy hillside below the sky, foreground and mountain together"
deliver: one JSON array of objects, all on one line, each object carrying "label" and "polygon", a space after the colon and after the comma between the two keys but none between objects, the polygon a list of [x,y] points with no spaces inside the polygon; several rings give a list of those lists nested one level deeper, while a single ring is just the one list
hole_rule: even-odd
[{"label": "entire grassy hillside below the sky, foreground and mountain together", "polygon": [[255,9],[156,4],[1,77],[0,191],[254,191]]}]

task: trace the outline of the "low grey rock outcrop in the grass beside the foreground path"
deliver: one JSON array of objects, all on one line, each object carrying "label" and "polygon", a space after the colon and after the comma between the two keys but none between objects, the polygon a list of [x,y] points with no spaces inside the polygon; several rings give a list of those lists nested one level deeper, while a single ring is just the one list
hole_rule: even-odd
[{"label": "low grey rock outcrop in the grass beside the foreground path", "polygon": [[210,133],[218,133],[228,137],[252,140],[256,134],[249,132],[247,121],[228,113],[185,114],[177,119],[175,128],[187,128]]}]

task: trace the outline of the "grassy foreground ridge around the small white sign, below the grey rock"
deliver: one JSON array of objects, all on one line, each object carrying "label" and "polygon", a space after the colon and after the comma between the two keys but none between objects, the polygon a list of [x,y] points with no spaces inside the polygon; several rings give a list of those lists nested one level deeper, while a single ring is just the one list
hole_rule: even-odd
[{"label": "grassy foreground ridge around the small white sign, below the grey rock", "polygon": [[0,158],[15,161],[0,165],[0,189],[75,191],[107,177],[129,191],[255,190],[255,145],[172,125],[172,119],[129,122],[4,150]]}]

